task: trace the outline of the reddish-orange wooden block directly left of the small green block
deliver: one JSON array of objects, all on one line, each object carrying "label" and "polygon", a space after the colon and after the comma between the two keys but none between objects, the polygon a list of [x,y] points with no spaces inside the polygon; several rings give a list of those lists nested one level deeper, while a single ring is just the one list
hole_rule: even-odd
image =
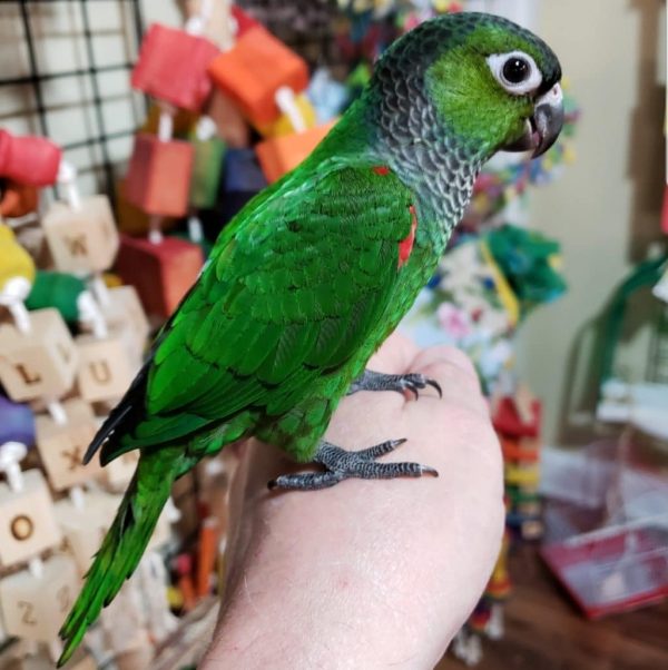
[{"label": "reddish-orange wooden block directly left of the small green block", "polygon": [[125,180],[126,200],[149,214],[184,216],[193,154],[190,142],[160,141],[154,135],[138,134]]}]

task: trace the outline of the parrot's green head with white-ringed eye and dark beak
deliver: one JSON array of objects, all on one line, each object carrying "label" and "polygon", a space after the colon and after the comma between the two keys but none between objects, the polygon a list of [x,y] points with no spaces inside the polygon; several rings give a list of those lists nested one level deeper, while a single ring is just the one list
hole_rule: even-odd
[{"label": "parrot's green head with white-ringed eye and dark beak", "polygon": [[539,156],[563,125],[559,60],[501,17],[460,12],[426,21],[397,40],[379,69],[379,80],[394,73],[395,83],[402,72],[409,97],[421,91],[448,135],[483,159],[499,150]]}]

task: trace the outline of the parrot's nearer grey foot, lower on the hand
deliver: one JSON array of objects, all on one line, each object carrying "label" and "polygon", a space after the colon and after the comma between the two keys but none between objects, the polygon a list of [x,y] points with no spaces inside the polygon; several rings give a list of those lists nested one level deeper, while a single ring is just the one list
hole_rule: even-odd
[{"label": "parrot's nearer grey foot, lower on the hand", "polygon": [[375,459],[389,454],[405,439],[389,440],[369,449],[348,452],[340,446],[321,442],[313,461],[325,466],[325,472],[302,472],[284,474],[268,483],[271,490],[316,491],[328,489],[351,477],[362,480],[392,480],[401,476],[419,477],[423,474],[439,476],[439,473],[420,463],[376,463]]}]

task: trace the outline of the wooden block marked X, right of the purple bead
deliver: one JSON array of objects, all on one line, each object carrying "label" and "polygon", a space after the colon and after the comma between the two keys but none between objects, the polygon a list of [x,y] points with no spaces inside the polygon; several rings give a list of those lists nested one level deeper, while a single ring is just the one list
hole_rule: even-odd
[{"label": "wooden block marked X, right of the purple bead", "polygon": [[62,408],[68,418],[66,424],[56,423],[48,414],[36,417],[37,449],[56,491],[78,486],[101,474],[97,460],[88,465],[82,463],[98,430],[92,408],[78,398],[62,403]]}]

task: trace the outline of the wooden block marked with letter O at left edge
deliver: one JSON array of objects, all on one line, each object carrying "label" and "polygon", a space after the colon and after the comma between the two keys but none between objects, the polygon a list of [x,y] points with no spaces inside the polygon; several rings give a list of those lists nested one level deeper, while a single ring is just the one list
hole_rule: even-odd
[{"label": "wooden block marked with letter O at left edge", "polygon": [[22,491],[0,483],[0,564],[21,563],[60,542],[52,505],[39,470],[23,472]]}]

